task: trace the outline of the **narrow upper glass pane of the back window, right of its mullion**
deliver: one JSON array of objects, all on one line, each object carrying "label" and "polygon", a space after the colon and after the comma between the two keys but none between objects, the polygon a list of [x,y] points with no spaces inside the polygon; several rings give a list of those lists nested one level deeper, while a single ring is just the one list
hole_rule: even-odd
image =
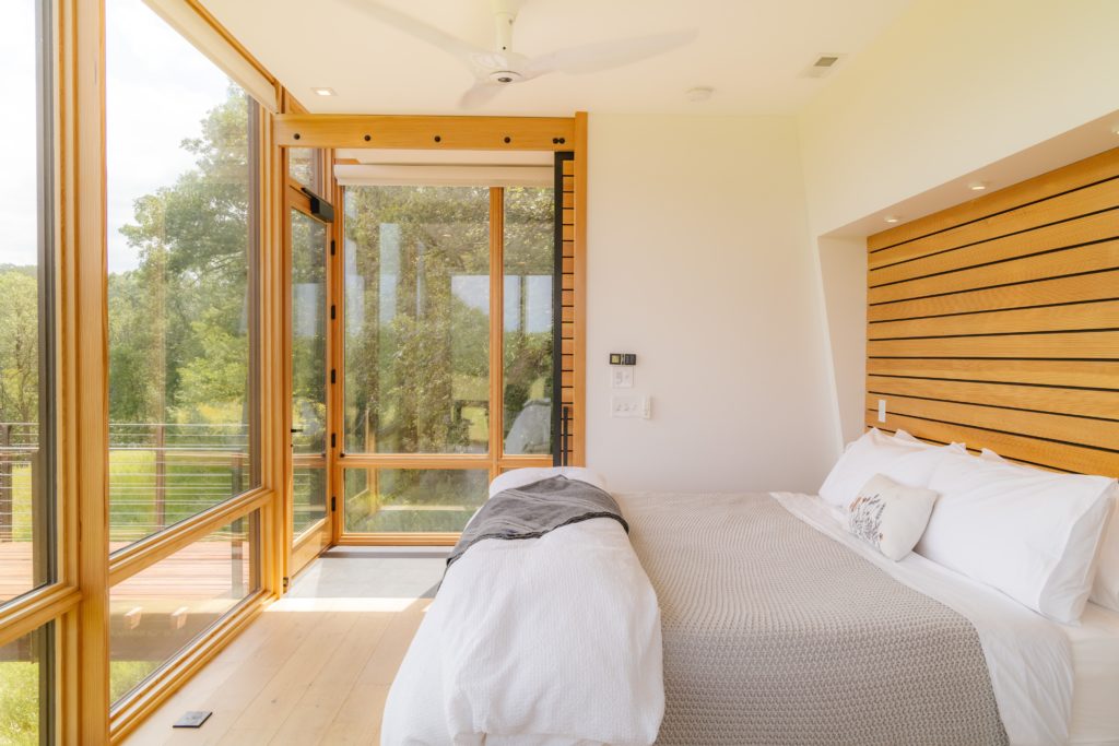
[{"label": "narrow upper glass pane of the back window, right of its mullion", "polygon": [[555,191],[505,190],[505,452],[552,453]]}]

